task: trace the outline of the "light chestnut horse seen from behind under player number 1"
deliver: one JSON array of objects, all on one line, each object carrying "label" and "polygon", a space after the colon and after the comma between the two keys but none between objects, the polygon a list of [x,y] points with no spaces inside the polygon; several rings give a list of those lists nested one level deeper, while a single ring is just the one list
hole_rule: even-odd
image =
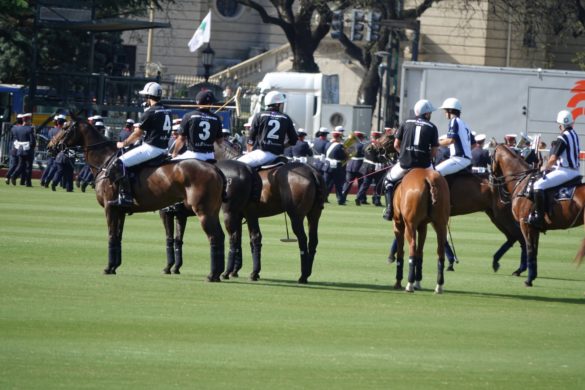
[{"label": "light chestnut horse seen from behind under player number 1", "polygon": [[[437,286],[435,293],[443,292],[445,268],[445,241],[449,222],[449,186],[443,176],[432,169],[411,169],[398,184],[394,195],[394,234],[398,241],[399,263],[404,259],[404,237],[409,244],[407,292],[420,288],[422,280],[423,249],[427,225],[437,233]],[[398,279],[400,276],[400,279]],[[397,274],[395,288],[402,275]]]}]

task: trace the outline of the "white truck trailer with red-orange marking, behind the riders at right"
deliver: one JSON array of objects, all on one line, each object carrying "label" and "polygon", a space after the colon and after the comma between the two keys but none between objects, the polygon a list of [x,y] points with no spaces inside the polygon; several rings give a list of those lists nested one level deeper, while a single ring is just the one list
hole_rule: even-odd
[{"label": "white truck trailer with red-orange marking, behind the riders at right", "polygon": [[[417,100],[428,99],[439,107],[448,97],[461,101],[462,119],[472,131],[485,133],[488,140],[495,137],[498,142],[504,141],[505,134],[525,133],[541,134],[550,145],[559,134],[557,113],[568,109],[585,148],[585,72],[403,63],[401,122],[412,114]],[[443,112],[435,112],[431,120],[439,134],[447,132]]]}]

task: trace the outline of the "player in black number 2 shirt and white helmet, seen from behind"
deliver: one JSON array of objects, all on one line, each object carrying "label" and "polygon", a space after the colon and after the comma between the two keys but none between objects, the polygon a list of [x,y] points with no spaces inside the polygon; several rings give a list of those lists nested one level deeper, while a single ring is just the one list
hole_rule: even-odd
[{"label": "player in black number 2 shirt and white helmet, seen from behind", "polygon": [[285,142],[297,143],[297,132],[290,117],[281,110],[286,102],[284,94],[270,91],[264,97],[266,111],[259,112],[252,120],[248,137],[248,153],[238,160],[252,167],[259,167],[284,153]]}]

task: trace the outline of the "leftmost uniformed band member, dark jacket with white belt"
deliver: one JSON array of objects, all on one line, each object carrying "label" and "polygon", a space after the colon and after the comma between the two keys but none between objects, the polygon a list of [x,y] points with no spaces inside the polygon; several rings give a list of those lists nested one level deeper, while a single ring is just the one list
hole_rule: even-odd
[{"label": "leftmost uniformed band member, dark jacket with white belt", "polygon": [[7,181],[13,185],[16,185],[16,179],[21,178],[20,184],[27,187],[32,187],[32,163],[34,161],[34,150],[36,146],[35,131],[31,125],[32,115],[27,113],[23,114],[23,124],[13,126],[11,129],[12,133],[12,145],[16,150],[17,164],[13,172],[7,176]]}]

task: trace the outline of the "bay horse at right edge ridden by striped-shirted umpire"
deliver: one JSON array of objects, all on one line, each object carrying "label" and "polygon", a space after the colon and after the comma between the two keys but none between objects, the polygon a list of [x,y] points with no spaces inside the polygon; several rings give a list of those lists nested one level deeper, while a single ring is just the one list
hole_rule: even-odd
[{"label": "bay horse at right edge ridden by striped-shirted umpire", "polygon": [[[534,173],[535,170],[531,169],[513,150],[501,144],[495,147],[492,156],[493,181],[510,196],[512,213],[520,224],[526,241],[528,275],[524,284],[527,287],[531,287],[538,276],[537,257],[540,231],[526,222],[526,218],[532,211],[532,200],[525,194],[529,182],[533,180]],[[547,190],[547,199],[549,200],[552,199],[551,196],[548,196],[551,192],[554,192],[554,189]],[[571,200],[551,200],[547,202],[547,206],[543,231],[569,229],[582,225],[584,223],[585,185],[580,184],[576,187]],[[575,262],[580,264],[584,256],[585,239],[581,242]]]}]

